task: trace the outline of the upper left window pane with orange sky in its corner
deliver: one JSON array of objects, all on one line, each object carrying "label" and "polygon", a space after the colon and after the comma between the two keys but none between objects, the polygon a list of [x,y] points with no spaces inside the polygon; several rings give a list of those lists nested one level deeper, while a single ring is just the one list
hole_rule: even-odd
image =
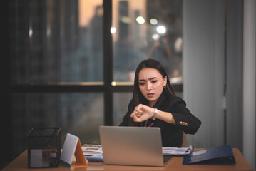
[{"label": "upper left window pane with orange sky in its corner", "polygon": [[102,4],[11,0],[11,83],[103,81]]}]

